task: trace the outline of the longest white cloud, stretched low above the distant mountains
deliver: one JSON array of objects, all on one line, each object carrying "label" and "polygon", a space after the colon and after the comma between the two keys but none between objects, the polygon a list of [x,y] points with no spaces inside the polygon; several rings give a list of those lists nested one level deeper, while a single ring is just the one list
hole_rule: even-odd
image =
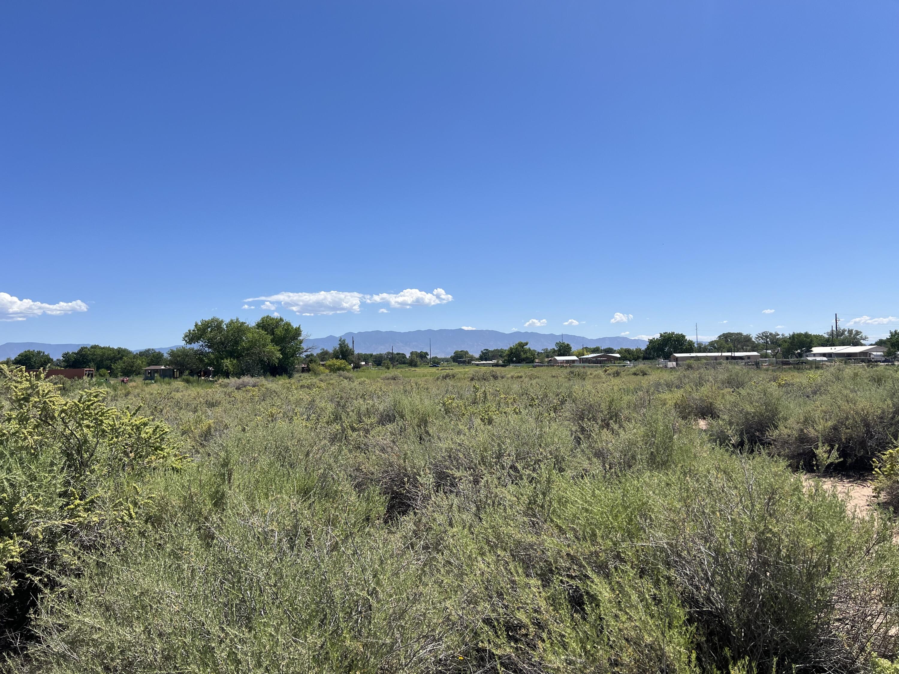
[{"label": "longest white cloud, stretched low above the distant mountains", "polygon": [[[316,293],[289,293],[282,292],[266,297],[248,297],[245,302],[255,300],[267,300],[280,302],[282,306],[297,314],[304,316],[345,314],[352,311],[358,314],[363,303],[387,304],[391,308],[408,309],[411,306],[434,306],[446,304],[452,301],[443,288],[434,288],[432,293],[426,293],[418,288],[406,288],[400,293],[378,293],[377,295],[363,295],[357,292],[343,292],[342,290],[321,290]],[[263,308],[265,306],[263,305]],[[272,306],[271,308],[274,308]]]}]

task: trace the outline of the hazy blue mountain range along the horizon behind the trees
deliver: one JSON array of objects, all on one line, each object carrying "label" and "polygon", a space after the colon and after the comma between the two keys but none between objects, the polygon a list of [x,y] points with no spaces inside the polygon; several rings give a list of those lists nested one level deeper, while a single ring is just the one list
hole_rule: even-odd
[{"label": "hazy blue mountain range along the horizon behind the trees", "polygon": [[[506,349],[516,341],[527,341],[531,349],[552,349],[556,341],[562,339],[561,334],[546,333],[500,333],[497,330],[413,330],[408,333],[393,331],[371,330],[365,333],[343,333],[344,340],[356,342],[356,350],[360,353],[385,353],[391,349],[408,353],[409,351],[428,350],[428,341],[431,342],[431,351],[435,356],[451,356],[455,350],[467,350],[477,355],[482,349]],[[313,350],[334,349],[337,346],[338,336],[329,334],[327,337],[307,339],[306,346]],[[636,349],[646,345],[645,340],[632,340],[628,337],[599,337],[590,339],[576,334],[566,334],[565,341],[574,349],[596,347],[604,349]],[[44,344],[39,341],[7,341],[0,344],[0,360],[15,358],[24,350],[40,350],[49,353],[51,358],[59,358],[64,351],[75,351],[90,344]],[[165,353],[174,346],[157,347],[157,351]]]}]

